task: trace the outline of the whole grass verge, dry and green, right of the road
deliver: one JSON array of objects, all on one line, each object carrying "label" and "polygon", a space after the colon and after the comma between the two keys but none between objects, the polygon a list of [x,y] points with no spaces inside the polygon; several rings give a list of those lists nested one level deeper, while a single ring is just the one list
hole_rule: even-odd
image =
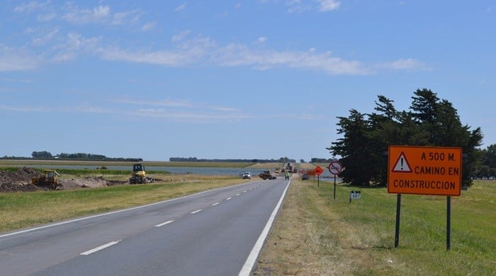
[{"label": "whole grass verge, dry and green, right of the road", "polygon": [[496,183],[475,182],[451,197],[402,195],[395,248],[396,195],[293,180],[255,275],[496,275]]}]

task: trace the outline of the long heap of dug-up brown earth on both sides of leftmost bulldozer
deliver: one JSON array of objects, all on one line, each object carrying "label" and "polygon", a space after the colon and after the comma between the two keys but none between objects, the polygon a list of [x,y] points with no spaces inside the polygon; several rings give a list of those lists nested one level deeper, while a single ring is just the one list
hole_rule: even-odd
[{"label": "long heap of dug-up brown earth on both sides of leftmost bulldozer", "polygon": [[[18,171],[0,171],[0,192],[34,192],[37,190],[50,190],[31,183],[31,178],[38,178],[41,173],[33,168],[23,167]],[[112,185],[123,185],[128,181],[106,180],[101,176],[89,176],[81,179],[59,179],[64,190],[77,188],[96,188]]]}]

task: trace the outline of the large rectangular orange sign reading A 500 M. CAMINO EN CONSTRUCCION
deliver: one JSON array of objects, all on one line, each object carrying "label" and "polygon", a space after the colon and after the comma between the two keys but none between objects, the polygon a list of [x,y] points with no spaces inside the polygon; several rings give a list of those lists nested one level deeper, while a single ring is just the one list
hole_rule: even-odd
[{"label": "large rectangular orange sign reading A 500 M. CAMINO EN CONSTRUCCION", "polygon": [[461,148],[389,146],[388,192],[460,195]]}]

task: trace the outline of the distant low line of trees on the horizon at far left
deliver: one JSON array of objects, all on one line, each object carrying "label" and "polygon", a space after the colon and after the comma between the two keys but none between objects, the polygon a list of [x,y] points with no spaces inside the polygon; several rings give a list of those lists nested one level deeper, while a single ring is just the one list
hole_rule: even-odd
[{"label": "distant low line of trees on the horizon at far left", "polygon": [[4,156],[1,159],[37,159],[37,160],[75,160],[75,161],[130,161],[130,162],[140,162],[143,161],[141,158],[111,158],[101,154],[57,154],[52,155],[48,151],[33,151],[31,158],[28,157],[16,157],[16,156]]}]

